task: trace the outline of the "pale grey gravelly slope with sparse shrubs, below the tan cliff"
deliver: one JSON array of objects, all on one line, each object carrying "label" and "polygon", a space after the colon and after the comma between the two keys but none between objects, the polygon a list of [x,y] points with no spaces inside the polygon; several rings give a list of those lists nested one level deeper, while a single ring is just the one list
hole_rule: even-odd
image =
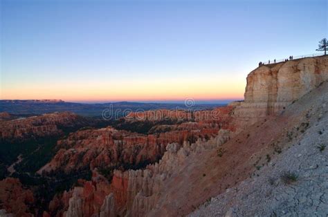
[{"label": "pale grey gravelly slope with sparse shrubs, below the tan cliff", "polygon": [[326,83],[287,108],[282,116],[294,116],[293,122],[300,118],[309,124],[307,130],[295,135],[298,125],[286,123],[284,132],[291,139],[286,150],[190,216],[327,216],[327,93]]}]

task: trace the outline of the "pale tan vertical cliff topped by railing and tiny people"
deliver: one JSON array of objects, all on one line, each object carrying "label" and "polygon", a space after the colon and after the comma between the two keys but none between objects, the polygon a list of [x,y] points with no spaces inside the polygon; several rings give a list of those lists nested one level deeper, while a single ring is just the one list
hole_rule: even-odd
[{"label": "pale tan vertical cliff topped by railing and tiny people", "polygon": [[247,77],[245,100],[235,109],[237,124],[244,128],[280,113],[327,79],[327,56],[261,66]]}]

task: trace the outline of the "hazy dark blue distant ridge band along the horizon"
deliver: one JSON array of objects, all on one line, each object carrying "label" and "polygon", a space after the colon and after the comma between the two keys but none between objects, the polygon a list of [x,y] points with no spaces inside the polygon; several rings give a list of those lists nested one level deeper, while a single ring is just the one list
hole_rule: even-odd
[{"label": "hazy dark blue distant ridge band along the horizon", "polygon": [[106,102],[80,103],[64,102],[63,100],[0,100],[0,112],[9,112],[12,115],[39,115],[44,113],[70,111],[78,115],[102,117],[103,111],[122,115],[131,111],[147,111],[150,109],[213,109],[226,104],[195,104],[188,107],[183,103],[146,103],[146,102]]}]

